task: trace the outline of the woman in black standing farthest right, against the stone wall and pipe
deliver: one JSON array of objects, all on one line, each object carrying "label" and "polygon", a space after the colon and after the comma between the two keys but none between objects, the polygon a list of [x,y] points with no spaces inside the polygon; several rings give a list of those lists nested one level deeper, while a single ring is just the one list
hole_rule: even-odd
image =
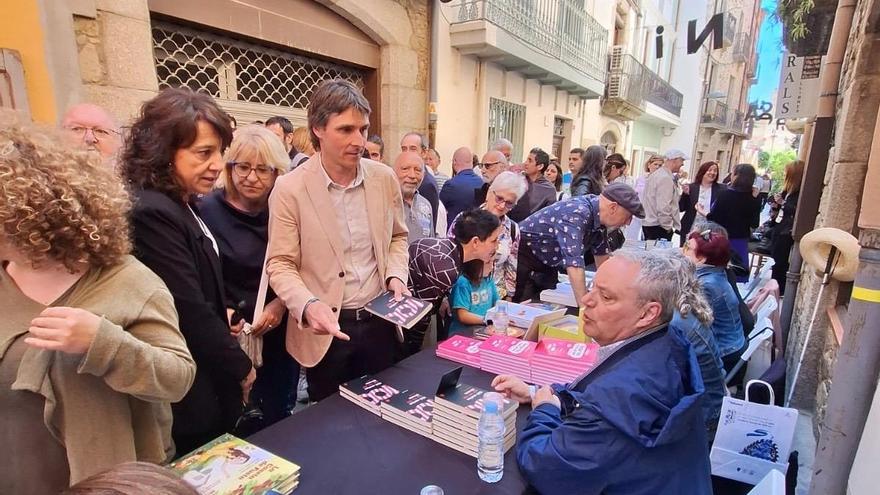
[{"label": "woman in black standing farthest right, against the stone wall and pipe", "polygon": [[791,230],[794,227],[794,214],[797,210],[803,178],[804,162],[795,160],[786,164],[782,192],[774,198],[774,202],[782,204],[782,220],[773,227],[770,240],[770,254],[773,256],[773,279],[779,284],[780,295],[785,292],[785,273],[788,271],[791,247],[794,245]]}]

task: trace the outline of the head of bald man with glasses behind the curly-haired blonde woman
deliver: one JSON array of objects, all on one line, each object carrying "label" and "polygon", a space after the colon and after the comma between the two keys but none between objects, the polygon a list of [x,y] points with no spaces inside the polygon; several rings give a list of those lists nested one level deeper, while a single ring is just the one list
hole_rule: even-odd
[{"label": "head of bald man with glasses behind the curly-haired blonde woman", "polygon": [[107,110],[91,103],[74,105],[62,117],[61,127],[70,144],[100,153],[105,163],[115,167],[122,137],[119,124]]}]

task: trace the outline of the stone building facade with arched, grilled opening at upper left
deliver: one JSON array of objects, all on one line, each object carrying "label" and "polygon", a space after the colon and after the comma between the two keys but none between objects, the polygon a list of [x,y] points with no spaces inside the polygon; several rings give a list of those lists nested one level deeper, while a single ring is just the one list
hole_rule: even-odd
[{"label": "stone building facade with arched, grilled opening at upper left", "polygon": [[426,128],[428,0],[21,3],[49,52],[24,63],[48,66],[54,86],[28,87],[48,107],[38,120],[89,101],[127,122],[161,88],[187,85],[242,123],[284,115],[302,125],[311,89],[343,77],[370,100],[371,132],[396,141]]}]

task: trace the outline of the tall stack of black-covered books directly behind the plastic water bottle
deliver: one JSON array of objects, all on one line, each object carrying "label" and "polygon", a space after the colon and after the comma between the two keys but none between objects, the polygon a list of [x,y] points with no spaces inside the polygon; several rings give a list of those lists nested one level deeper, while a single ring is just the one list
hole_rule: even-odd
[{"label": "tall stack of black-covered books directly behind the plastic water bottle", "polygon": [[[438,443],[477,457],[477,428],[483,411],[486,390],[459,383],[455,388],[434,397],[432,437]],[[516,408],[519,404],[504,400],[504,451],[516,443]]]}]

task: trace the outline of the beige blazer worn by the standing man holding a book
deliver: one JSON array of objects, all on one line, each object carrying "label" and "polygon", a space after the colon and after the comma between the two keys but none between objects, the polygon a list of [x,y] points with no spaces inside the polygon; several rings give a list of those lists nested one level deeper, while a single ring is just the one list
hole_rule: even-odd
[{"label": "beige blazer worn by the standing man holding a book", "polygon": [[[409,275],[407,228],[400,185],[387,165],[361,159],[367,217],[373,252],[383,281]],[[290,311],[287,351],[303,366],[318,364],[333,337],[316,335],[302,322],[306,303],[313,297],[338,315],[345,279],[342,237],[327,179],[318,153],[275,182],[269,197],[269,246],[266,272],[269,284]]]}]

